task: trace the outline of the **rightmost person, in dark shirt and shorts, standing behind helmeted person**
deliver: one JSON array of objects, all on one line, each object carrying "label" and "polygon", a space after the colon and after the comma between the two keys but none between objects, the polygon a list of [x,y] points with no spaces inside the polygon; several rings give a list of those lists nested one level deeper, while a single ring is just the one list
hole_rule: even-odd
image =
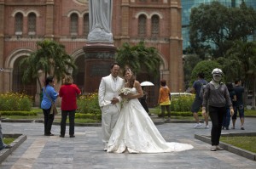
[{"label": "rightmost person, in dark shirt and shorts, standing behind helmeted person", "polygon": [[241,121],[241,130],[244,130],[243,124],[244,124],[244,106],[243,106],[243,93],[244,93],[244,87],[241,87],[241,80],[236,79],[235,81],[235,87],[234,87],[235,93],[236,93],[236,104],[234,105],[234,115],[232,116],[232,123],[233,127],[232,129],[235,129],[236,124],[236,116],[237,111],[239,112],[239,118]]}]

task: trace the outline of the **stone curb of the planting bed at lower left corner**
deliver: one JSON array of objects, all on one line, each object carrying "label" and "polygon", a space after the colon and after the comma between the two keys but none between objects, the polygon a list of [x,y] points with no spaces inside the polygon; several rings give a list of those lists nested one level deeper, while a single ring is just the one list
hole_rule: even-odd
[{"label": "stone curb of the planting bed at lower left corner", "polygon": [[15,150],[17,149],[20,144],[22,144],[26,140],[26,135],[23,134],[3,134],[3,136],[11,136],[17,137],[13,143],[10,145],[12,146],[10,149],[2,149],[0,151],[0,164]]}]

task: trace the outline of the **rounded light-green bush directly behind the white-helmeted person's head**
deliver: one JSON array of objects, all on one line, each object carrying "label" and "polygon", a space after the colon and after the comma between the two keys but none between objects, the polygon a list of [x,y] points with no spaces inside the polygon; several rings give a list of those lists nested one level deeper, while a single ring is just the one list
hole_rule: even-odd
[{"label": "rounded light-green bush directly behind the white-helmeted person's head", "polygon": [[203,72],[205,75],[205,79],[207,82],[212,80],[212,70],[214,68],[222,69],[222,66],[219,65],[216,61],[211,60],[203,60],[195,65],[195,68],[192,70],[191,78],[190,78],[190,86],[192,86],[193,82],[198,79],[198,73]]}]

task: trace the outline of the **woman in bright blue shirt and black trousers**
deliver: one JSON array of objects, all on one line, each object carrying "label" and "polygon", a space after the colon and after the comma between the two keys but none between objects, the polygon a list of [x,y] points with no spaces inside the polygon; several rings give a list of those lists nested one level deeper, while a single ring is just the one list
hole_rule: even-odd
[{"label": "woman in bright blue shirt and black trousers", "polygon": [[54,87],[55,82],[53,76],[47,77],[43,88],[44,96],[41,102],[41,108],[44,111],[44,136],[54,136],[54,134],[50,132],[52,122],[55,119],[55,114],[50,114],[51,103],[55,103],[58,98],[58,93],[56,93]]}]

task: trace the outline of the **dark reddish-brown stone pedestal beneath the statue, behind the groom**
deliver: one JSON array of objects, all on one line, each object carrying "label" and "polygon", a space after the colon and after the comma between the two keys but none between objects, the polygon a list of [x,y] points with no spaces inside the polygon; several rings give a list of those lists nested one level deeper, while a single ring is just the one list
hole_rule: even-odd
[{"label": "dark reddish-brown stone pedestal beneath the statue, behind the groom", "polygon": [[103,76],[110,74],[116,48],[113,43],[87,43],[84,46],[84,93],[98,91]]}]

